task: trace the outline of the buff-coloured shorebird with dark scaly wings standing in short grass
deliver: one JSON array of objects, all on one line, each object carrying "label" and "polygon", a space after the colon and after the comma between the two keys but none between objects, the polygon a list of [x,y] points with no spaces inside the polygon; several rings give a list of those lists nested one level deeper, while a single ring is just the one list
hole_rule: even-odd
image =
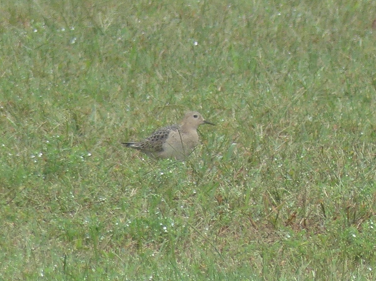
[{"label": "buff-coloured shorebird with dark scaly wings standing in short grass", "polygon": [[122,142],[152,158],[184,160],[199,144],[197,128],[202,124],[215,125],[206,121],[199,112],[187,112],[180,125],[160,128],[139,142]]}]

